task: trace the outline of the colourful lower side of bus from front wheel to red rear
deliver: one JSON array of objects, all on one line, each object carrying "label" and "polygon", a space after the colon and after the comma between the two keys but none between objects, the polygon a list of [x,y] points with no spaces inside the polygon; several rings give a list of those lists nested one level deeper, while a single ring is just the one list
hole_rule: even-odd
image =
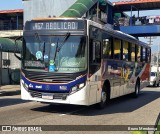
[{"label": "colourful lower side of bus from front wheel to red rear", "polygon": [[[104,60],[102,68],[102,83],[110,81],[111,98],[116,98],[135,91],[135,85],[140,78],[140,88],[149,84],[150,64]],[[103,85],[103,84],[102,84]]]}]

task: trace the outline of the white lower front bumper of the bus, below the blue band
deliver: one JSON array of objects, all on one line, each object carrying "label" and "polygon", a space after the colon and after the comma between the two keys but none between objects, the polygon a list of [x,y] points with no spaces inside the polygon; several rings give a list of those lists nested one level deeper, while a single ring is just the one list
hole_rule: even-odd
[{"label": "white lower front bumper of the bus, below the blue band", "polygon": [[62,95],[62,97],[60,97],[59,99],[52,97],[54,93],[42,93],[34,91],[33,94],[26,90],[21,83],[21,99],[23,100],[32,100],[44,103],[89,105],[89,93],[86,90],[86,86],[73,94],[68,94],[67,96],[59,94],[60,96]]}]

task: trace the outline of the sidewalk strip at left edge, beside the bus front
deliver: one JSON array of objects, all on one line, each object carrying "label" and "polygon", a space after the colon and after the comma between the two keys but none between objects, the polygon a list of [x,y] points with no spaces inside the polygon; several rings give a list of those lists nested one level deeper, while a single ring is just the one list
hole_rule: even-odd
[{"label": "sidewalk strip at left edge, beside the bus front", "polygon": [[0,96],[12,96],[20,94],[20,85],[0,86]]}]

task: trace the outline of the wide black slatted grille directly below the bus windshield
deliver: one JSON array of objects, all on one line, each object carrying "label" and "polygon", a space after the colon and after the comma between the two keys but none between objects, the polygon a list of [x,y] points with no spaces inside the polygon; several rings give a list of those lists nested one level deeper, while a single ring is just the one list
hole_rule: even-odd
[{"label": "wide black slatted grille directly below the bus windshield", "polygon": [[23,71],[25,77],[31,81],[47,83],[67,83],[76,79],[76,75],[65,73]]}]

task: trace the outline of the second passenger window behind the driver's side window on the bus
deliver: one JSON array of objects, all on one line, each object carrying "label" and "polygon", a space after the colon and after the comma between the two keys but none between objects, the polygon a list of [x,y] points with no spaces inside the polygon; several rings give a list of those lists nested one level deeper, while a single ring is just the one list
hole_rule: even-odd
[{"label": "second passenger window behind the driver's side window on the bus", "polygon": [[114,45],[114,59],[121,59],[121,40],[114,39],[113,40]]}]

